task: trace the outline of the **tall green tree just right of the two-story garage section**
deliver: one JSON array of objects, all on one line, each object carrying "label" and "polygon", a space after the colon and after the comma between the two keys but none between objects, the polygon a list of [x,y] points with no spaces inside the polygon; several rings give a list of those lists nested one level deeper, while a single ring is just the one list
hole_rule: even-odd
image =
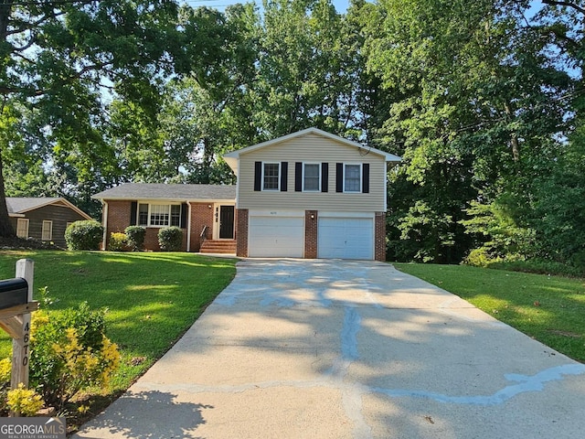
[{"label": "tall green tree just right of the two-story garage section", "polygon": [[461,224],[470,203],[502,191],[525,202],[533,166],[558,146],[566,107],[556,97],[571,84],[524,25],[525,6],[381,0],[361,8],[367,67],[390,97],[378,142],[405,159],[396,178],[408,194],[396,193],[390,230],[410,244],[427,236],[426,250],[404,257],[460,260],[471,245]]}]

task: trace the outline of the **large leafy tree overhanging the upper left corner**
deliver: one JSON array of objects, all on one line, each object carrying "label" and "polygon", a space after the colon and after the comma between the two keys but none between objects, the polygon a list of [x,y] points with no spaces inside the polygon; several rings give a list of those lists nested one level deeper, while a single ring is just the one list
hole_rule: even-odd
[{"label": "large leafy tree overhanging the upper left corner", "polygon": [[[0,0],[1,104],[34,109],[54,162],[95,175],[100,159],[115,158],[103,138],[108,96],[154,117],[169,75],[213,80],[217,27],[188,7],[179,22],[179,10],[168,0]],[[12,147],[0,145],[0,160]],[[0,236],[13,234],[0,174]]]}]

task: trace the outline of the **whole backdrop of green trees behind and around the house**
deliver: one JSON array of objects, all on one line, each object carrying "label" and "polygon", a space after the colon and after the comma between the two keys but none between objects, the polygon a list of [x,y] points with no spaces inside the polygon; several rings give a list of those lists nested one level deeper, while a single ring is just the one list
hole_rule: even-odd
[{"label": "whole backdrop of green trees behind and around the house", "polygon": [[233,183],[223,153],[316,126],[403,157],[390,259],[582,270],[584,20],[580,0],[0,0],[2,187],[96,215],[103,188]]}]

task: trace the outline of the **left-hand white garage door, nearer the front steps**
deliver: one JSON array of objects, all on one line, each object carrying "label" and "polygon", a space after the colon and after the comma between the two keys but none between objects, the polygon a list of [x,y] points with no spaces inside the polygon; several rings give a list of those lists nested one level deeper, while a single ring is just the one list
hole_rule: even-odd
[{"label": "left-hand white garage door, nearer the front steps", "polygon": [[250,216],[248,235],[250,258],[302,258],[303,253],[303,217]]}]

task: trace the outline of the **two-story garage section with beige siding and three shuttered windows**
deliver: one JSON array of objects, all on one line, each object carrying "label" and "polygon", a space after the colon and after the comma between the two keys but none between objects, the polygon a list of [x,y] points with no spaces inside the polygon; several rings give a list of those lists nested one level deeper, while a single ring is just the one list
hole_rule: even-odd
[{"label": "two-story garage section with beige siding and three shuttered windows", "polygon": [[309,128],[224,159],[238,178],[238,256],[386,260],[399,156]]}]

